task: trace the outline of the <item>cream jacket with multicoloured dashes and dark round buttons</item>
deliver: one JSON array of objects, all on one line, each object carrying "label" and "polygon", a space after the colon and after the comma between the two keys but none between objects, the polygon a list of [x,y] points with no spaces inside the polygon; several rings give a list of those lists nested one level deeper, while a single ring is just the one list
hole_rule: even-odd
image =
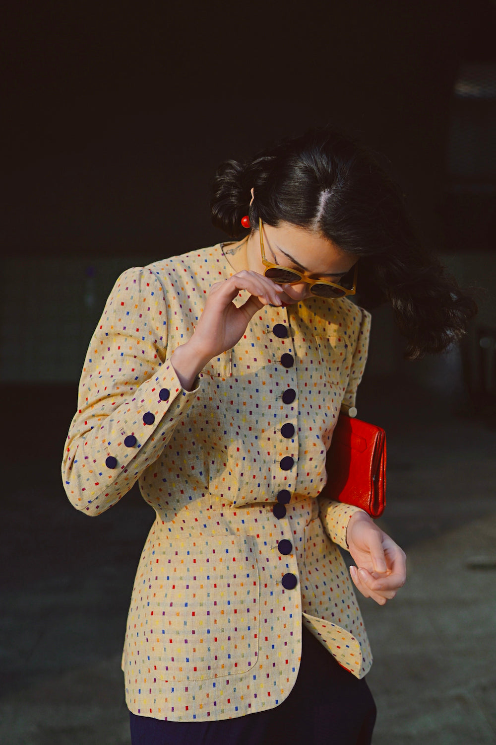
[{"label": "cream jacket with multicoloured dashes and dark round buttons", "polygon": [[160,719],[277,706],[296,680],[302,623],[353,675],[372,662],[338,550],[357,508],[319,501],[370,317],[347,299],[266,306],[185,391],[170,355],[211,285],[232,273],[219,244],[120,276],[88,348],[62,464],[78,510],[98,515],[139,479],[156,512],[123,671],[129,709]]}]

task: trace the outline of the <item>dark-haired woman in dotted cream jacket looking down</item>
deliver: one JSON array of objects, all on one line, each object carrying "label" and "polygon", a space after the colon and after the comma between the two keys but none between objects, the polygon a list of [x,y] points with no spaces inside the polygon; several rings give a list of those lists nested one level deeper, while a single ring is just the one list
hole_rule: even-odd
[{"label": "dark-haired woman in dotted cream jacket looking down", "polygon": [[338,547],[380,604],[405,554],[319,496],[367,355],[370,316],[348,296],[391,302],[410,358],[445,349],[474,308],[416,244],[396,186],[330,130],[222,165],[212,215],[236,242],[117,280],[62,466],[90,515],[138,479],[157,513],[123,652],[132,742],[369,743],[372,658]]}]

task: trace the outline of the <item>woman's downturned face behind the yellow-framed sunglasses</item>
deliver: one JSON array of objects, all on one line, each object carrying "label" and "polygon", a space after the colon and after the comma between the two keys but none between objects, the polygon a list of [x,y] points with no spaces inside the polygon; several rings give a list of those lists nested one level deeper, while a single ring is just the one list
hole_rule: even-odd
[{"label": "woman's downturned face behind the yellow-framed sunglasses", "polygon": [[[289,267],[305,274],[309,279],[326,279],[339,284],[342,277],[355,265],[357,258],[324,238],[321,233],[281,222],[277,227],[263,225],[265,259],[281,267]],[[247,246],[248,269],[264,273],[260,251],[259,231],[252,233]],[[281,300],[284,305],[314,297],[310,285],[283,285]]]}]

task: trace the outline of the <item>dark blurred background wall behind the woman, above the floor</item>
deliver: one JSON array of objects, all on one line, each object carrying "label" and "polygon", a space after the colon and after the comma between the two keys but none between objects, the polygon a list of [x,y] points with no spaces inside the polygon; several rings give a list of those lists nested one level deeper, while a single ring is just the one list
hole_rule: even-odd
[{"label": "dark blurred background wall behind the woman, above the floor", "polygon": [[33,415],[57,399],[63,423],[52,414],[45,442],[61,446],[120,271],[222,240],[208,209],[216,165],[327,122],[383,153],[424,240],[488,289],[463,354],[437,361],[405,364],[390,312],[376,311],[369,376],[494,395],[494,31],[490,0],[13,4],[0,163],[8,400]]}]

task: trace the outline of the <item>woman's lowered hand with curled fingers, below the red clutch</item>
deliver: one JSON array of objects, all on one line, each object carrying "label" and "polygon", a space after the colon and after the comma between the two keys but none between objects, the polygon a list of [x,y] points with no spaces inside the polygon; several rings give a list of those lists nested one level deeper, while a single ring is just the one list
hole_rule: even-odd
[{"label": "woman's lowered hand with curled fingers, below the red clutch", "polygon": [[350,574],[361,594],[379,605],[395,597],[406,580],[406,556],[399,545],[364,512],[351,516],[347,543],[356,563]]}]

